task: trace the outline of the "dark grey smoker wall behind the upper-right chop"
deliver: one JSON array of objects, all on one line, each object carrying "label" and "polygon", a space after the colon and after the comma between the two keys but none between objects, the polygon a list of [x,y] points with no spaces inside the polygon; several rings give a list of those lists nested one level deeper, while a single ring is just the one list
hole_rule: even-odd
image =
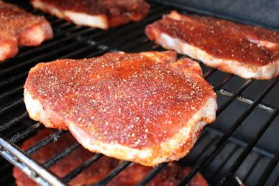
[{"label": "dark grey smoker wall behind the upper-right chop", "polygon": [[237,20],[246,20],[255,24],[279,27],[278,0],[159,0],[165,3],[178,3],[209,14],[223,17],[234,17]]}]

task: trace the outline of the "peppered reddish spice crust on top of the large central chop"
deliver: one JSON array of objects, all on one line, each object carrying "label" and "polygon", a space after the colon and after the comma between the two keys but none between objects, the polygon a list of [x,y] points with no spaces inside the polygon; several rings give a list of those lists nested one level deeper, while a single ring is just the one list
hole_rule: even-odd
[{"label": "peppered reddish spice crust on top of the large central chop", "polygon": [[98,141],[154,146],[177,134],[216,95],[199,70],[186,74],[169,66],[174,52],[148,54],[40,63],[24,88],[62,119],[54,127],[75,123]]}]

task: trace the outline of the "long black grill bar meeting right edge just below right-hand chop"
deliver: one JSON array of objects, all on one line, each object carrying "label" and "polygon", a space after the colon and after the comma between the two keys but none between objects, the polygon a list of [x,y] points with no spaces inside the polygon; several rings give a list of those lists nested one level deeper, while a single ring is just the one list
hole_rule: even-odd
[{"label": "long black grill bar meeting right edge just below right-hand chop", "polygon": [[[179,185],[186,185],[186,183],[188,183],[200,169],[202,169],[204,166],[206,166],[206,164],[208,164],[209,160],[211,160],[211,158],[214,155],[216,155],[216,153],[218,153],[220,147],[222,147],[225,144],[225,141],[227,141],[227,139],[232,135],[232,133],[242,124],[242,122],[247,118],[247,116],[249,116],[249,114],[252,112],[253,109],[255,109],[257,104],[264,98],[264,96],[267,93],[269,93],[271,88],[273,88],[273,86],[276,85],[278,80],[279,80],[279,78],[274,79],[271,82],[271,84],[269,84],[269,86],[266,87],[266,89],[261,93],[261,95],[258,96],[257,100],[255,100],[255,102],[249,107],[249,109],[247,109],[236,120],[234,125],[232,125],[232,127],[230,127],[229,130],[225,134],[223,134],[223,137],[220,138],[218,143],[215,146],[213,146],[211,149],[209,149],[209,151],[206,153],[206,155],[204,155],[204,157],[202,157],[201,160],[199,162],[197,162],[197,164],[193,167],[192,171],[188,174],[188,176],[186,176],[186,178],[184,178],[181,181],[181,183]],[[217,114],[220,114],[219,109],[217,111]]]}]

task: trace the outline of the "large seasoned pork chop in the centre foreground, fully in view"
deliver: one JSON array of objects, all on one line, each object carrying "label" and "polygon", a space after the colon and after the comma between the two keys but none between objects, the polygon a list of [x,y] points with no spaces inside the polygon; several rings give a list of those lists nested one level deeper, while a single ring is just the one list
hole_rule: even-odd
[{"label": "large seasoned pork chop in the centre foreground, fully in view", "polygon": [[175,52],[108,53],[39,63],[24,102],[46,127],[70,130],[85,148],[146,166],[179,160],[216,117],[216,94]]}]

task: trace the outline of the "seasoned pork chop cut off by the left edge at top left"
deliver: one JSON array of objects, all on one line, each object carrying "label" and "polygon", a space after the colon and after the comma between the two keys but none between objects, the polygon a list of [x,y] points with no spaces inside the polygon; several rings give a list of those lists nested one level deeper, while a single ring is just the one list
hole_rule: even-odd
[{"label": "seasoned pork chop cut off by the left edge at top left", "polygon": [[52,35],[52,27],[44,17],[0,1],[0,61],[15,56],[18,45],[37,46]]}]

